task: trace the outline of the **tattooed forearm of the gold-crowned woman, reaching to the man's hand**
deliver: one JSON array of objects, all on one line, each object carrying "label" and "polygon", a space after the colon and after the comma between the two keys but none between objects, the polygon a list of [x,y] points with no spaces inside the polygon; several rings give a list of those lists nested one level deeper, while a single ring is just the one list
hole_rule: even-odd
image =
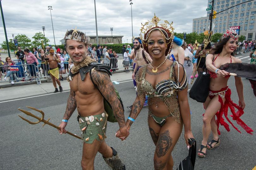
[{"label": "tattooed forearm of the gold-crowned woman, reaching to the man's hand", "polygon": [[[129,117],[133,118],[133,119],[136,119],[136,117],[139,115],[140,113],[140,110],[142,109],[143,107],[143,104],[144,104],[144,101],[141,101],[140,100],[140,97],[137,96],[134,103],[133,103],[133,106],[132,106],[132,110],[130,112],[130,115]],[[130,129],[131,125],[133,124],[133,121],[127,119],[126,121],[126,126],[128,127],[128,129]]]}]

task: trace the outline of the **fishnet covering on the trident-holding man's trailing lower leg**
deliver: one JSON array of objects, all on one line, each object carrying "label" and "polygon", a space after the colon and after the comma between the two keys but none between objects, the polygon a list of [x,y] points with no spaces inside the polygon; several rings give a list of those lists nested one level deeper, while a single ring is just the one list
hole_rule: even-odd
[{"label": "fishnet covering on the trident-holding man's trailing lower leg", "polygon": [[122,163],[121,159],[117,155],[116,150],[114,150],[114,148],[112,147],[111,149],[113,150],[113,156],[110,158],[103,157],[104,161],[112,170],[125,170],[125,165]]}]

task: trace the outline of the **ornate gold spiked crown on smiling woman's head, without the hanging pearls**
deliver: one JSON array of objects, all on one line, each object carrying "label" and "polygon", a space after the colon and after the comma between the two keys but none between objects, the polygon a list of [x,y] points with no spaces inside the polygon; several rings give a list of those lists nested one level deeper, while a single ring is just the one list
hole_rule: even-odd
[{"label": "ornate gold spiked crown on smiling woman's head, without the hanging pearls", "polygon": [[[142,38],[142,39],[144,39],[143,37],[142,37],[142,34],[145,34],[148,30],[150,30],[151,28],[153,28],[153,27],[163,27],[164,29],[167,29],[167,30],[169,30],[170,31],[170,33],[171,33],[171,37],[166,37],[168,40],[170,40],[170,39],[173,39],[173,36],[174,36],[174,28],[172,27],[172,24],[173,24],[173,22],[171,22],[171,23],[169,23],[169,21],[167,21],[167,20],[161,20],[161,19],[159,19],[157,16],[156,16],[156,14],[154,14],[154,17],[152,18],[152,20],[151,21],[147,21],[147,22],[145,22],[145,24],[142,24],[141,23],[141,25],[142,25],[142,27],[141,27],[141,29],[140,29],[140,37]],[[162,30],[162,31],[164,31],[164,30]],[[148,34],[148,36],[149,36],[149,34]],[[147,39],[148,37],[146,37],[146,39]]]}]

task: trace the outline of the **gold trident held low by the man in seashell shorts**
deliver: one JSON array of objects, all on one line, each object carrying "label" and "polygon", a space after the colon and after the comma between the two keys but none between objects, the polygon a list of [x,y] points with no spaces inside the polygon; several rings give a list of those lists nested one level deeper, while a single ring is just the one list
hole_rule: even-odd
[{"label": "gold trident held low by the man in seashell shorts", "polygon": [[[43,126],[45,126],[45,124],[48,124],[48,125],[50,125],[50,126],[52,126],[52,127],[55,127],[56,129],[59,129],[59,130],[60,130],[60,127],[58,127],[58,126],[56,126],[56,125],[54,125],[54,124],[52,124],[52,123],[49,122],[50,118],[49,118],[47,121],[44,119],[45,113],[44,113],[42,110],[38,110],[38,109],[36,109],[36,108],[34,108],[34,107],[30,107],[30,106],[26,106],[26,107],[40,112],[40,113],[42,114],[42,117],[37,117],[37,116],[33,115],[32,113],[30,113],[29,111],[22,110],[22,109],[19,108],[18,110],[22,111],[23,113],[25,113],[25,114],[28,115],[28,116],[32,116],[32,117],[38,119],[39,121],[37,121],[37,122],[31,122],[31,121],[25,119],[24,117],[21,117],[20,115],[18,115],[18,116],[20,116],[21,119],[23,119],[24,121],[27,121],[29,124],[33,124],[33,125],[34,125],[34,124],[37,124],[37,123],[39,123],[39,122],[44,122]],[[79,137],[79,136],[77,136],[77,135],[75,135],[75,134],[73,134],[73,133],[70,133],[70,132],[68,132],[68,131],[67,131],[67,133],[70,134],[70,135],[72,135],[72,136],[74,136],[74,137],[76,137],[76,138],[78,138],[78,139],[81,139],[81,137]]]}]

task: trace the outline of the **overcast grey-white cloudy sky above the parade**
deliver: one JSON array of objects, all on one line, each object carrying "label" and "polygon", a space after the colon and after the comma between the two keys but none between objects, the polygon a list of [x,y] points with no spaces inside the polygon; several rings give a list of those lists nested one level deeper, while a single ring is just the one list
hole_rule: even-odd
[{"label": "overcast grey-white cloudy sky above the parade", "polygon": [[[2,0],[3,14],[8,40],[12,34],[26,34],[30,39],[36,32],[43,32],[54,44],[52,20],[56,45],[67,29],[77,27],[86,35],[96,35],[94,0]],[[32,3],[33,2],[33,3]],[[140,33],[141,23],[154,16],[173,21],[175,32],[192,32],[193,18],[205,17],[207,1],[191,0],[132,0],[133,35]],[[96,0],[98,35],[123,35],[123,43],[131,43],[132,22],[129,0]],[[0,43],[5,41],[3,22],[0,18]]]}]

